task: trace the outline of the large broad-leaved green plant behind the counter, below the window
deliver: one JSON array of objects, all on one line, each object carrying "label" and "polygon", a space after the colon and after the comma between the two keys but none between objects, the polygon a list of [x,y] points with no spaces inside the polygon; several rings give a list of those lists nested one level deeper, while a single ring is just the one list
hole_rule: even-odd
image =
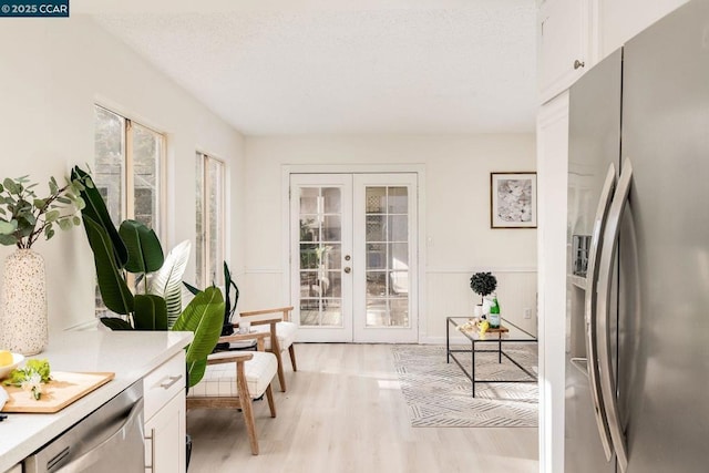
[{"label": "large broad-leaved green plant behind the counter, below the window", "polygon": [[[73,174],[90,178],[79,167],[74,167]],[[193,387],[202,380],[207,354],[214,350],[222,331],[225,310],[222,291],[207,288],[182,310],[182,302],[173,300],[173,295],[179,295],[182,288],[189,243],[177,245],[165,258],[152,229],[136,220],[124,220],[116,229],[103,197],[93,186],[83,188],[81,195],[86,203],[82,219],[94,254],[99,290],[106,307],[124,316],[103,317],[101,321],[112,330],[193,331],[194,340],[186,352],[188,385]],[[148,282],[147,276],[155,271]],[[136,275],[143,292],[133,294],[126,282],[127,274]],[[174,323],[168,320],[168,307],[178,312]]]}]

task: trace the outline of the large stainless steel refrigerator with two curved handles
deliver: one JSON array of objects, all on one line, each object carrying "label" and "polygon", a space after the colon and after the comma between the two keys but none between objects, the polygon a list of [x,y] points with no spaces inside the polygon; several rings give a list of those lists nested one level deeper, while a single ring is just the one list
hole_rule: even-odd
[{"label": "large stainless steel refrigerator with two curved handles", "polygon": [[709,472],[709,0],[569,104],[565,471]]}]

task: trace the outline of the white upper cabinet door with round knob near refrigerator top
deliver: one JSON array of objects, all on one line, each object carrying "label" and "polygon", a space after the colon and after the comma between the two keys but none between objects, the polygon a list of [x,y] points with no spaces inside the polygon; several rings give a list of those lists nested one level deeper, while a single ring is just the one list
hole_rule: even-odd
[{"label": "white upper cabinet door with round knob near refrigerator top", "polygon": [[595,56],[592,43],[594,0],[545,0],[537,17],[537,68],[541,103],[568,89]]}]

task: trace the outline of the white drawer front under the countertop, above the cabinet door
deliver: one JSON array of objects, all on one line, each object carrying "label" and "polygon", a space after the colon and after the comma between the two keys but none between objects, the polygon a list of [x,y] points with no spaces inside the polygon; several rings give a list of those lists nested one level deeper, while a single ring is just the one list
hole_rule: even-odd
[{"label": "white drawer front under the countertop, above the cabinet door", "polygon": [[186,383],[185,371],[185,352],[181,350],[179,353],[143,378],[145,421],[150,420],[181,390],[184,391]]}]

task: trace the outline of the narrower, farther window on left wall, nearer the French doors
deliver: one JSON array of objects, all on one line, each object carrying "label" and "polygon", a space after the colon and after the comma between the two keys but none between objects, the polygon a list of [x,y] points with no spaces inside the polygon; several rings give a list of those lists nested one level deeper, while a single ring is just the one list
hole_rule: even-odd
[{"label": "narrower, farther window on left wall, nearer the French doors", "polygon": [[196,153],[197,215],[195,284],[224,284],[224,162]]}]

